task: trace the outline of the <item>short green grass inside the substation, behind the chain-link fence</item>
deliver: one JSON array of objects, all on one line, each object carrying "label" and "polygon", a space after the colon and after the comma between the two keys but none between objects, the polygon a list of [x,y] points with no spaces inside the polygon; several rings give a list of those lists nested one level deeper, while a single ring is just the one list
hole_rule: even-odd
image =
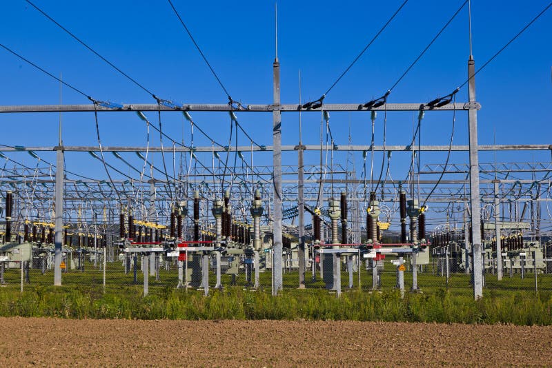
[{"label": "short green grass inside the substation, behind the chain-link fence", "polygon": [[[188,270],[191,272],[191,270]],[[200,269],[196,269],[199,275]],[[290,292],[295,292],[299,287],[299,273],[297,271],[284,271],[284,289],[289,289]],[[42,274],[38,269],[30,269],[29,279],[30,283],[24,283],[23,288],[28,287],[47,287],[53,284],[53,271],[48,270],[45,274]],[[397,273],[395,266],[389,262],[385,263],[384,272],[380,274],[382,291],[393,290],[397,284]],[[15,287],[19,289],[21,283],[21,270],[20,269],[6,269],[4,280],[8,284],[8,287]],[[159,280],[156,280],[155,276],[150,276],[149,289],[150,293],[155,294],[157,290],[163,290],[170,287],[176,287],[177,285],[177,267],[174,264],[170,265],[170,269],[159,267]],[[209,276],[210,287],[215,286],[215,273],[210,272]],[[262,272],[259,275],[261,289],[271,289],[271,273],[270,270]],[[348,272],[346,269],[342,269],[341,272],[342,291],[348,291]],[[538,274],[538,290],[540,292],[552,292],[552,274]],[[96,287],[103,285],[103,269],[101,265],[94,267],[93,263],[86,262],[84,271],[77,269],[68,270],[62,274],[63,286],[68,287]],[[144,283],[144,276],[141,269],[137,270],[137,280],[134,282],[132,269],[128,274],[125,274],[124,267],[120,262],[107,263],[106,267],[106,287],[107,289],[117,289],[121,287],[130,287],[131,289],[141,289]],[[228,286],[248,286],[246,283],[246,275],[244,272],[240,272],[233,285],[232,276],[228,274],[221,275],[221,283],[224,287]],[[324,289],[324,281],[320,278],[319,274],[313,279],[311,271],[307,270],[305,275],[306,289]],[[424,267],[424,272],[417,273],[418,289],[426,294],[437,292],[441,289],[445,289],[454,295],[471,296],[473,293],[470,283],[470,275],[464,273],[451,273],[447,282],[444,276],[435,274],[431,264]],[[353,290],[370,291],[372,289],[372,272],[367,271],[364,267],[360,269],[359,274],[353,272]],[[412,273],[404,272],[404,285],[406,291],[409,291],[412,287]],[[485,274],[485,289],[487,291],[493,291],[497,294],[509,294],[511,292],[524,291],[535,292],[535,276],[533,273],[525,274],[522,279],[520,274],[513,274],[510,278],[509,274],[504,274],[502,281],[498,281],[493,274]],[[300,291],[298,291],[300,292]]]}]

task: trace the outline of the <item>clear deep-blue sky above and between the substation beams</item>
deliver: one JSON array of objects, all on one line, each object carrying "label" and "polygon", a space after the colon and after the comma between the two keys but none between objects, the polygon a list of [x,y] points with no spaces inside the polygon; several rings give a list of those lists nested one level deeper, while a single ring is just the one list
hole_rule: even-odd
[{"label": "clear deep-blue sky above and between the substation beams", "polygon": [[[226,95],[201,60],[167,1],[44,1],[35,0],[51,17],[92,48],[164,99],[184,103],[226,103]],[[273,1],[174,0],[184,21],[204,50],[233,99],[242,103],[271,103],[274,59]],[[279,61],[282,103],[297,103],[297,74],[302,71],[304,100],[317,99],[400,6],[401,1],[279,1]],[[462,1],[410,0],[397,18],[326,97],[326,103],[362,103],[382,95],[417,57]],[[548,1],[472,1],[473,55],[476,67],[489,59],[534,17]],[[0,13],[1,43],[23,54],[52,74],[95,99],[119,103],[154,103],[143,90],[112,70],[68,34],[23,0],[5,1]],[[479,141],[493,143],[552,143],[552,10],[477,75]],[[424,103],[452,92],[467,76],[469,57],[467,6],[406,78],[389,102]],[[0,50],[2,105],[55,104],[59,83]],[[467,89],[457,101],[467,100]],[[63,103],[88,103],[63,88]],[[148,115],[157,121],[155,114]],[[304,114],[304,143],[319,143],[319,114]],[[195,113],[195,120],[214,139],[228,140],[226,114]],[[5,145],[56,145],[57,114],[4,114],[0,116]],[[376,144],[382,143],[382,114],[377,118]],[[271,144],[270,114],[239,114],[239,120],[259,143]],[[426,114],[422,144],[446,145],[452,113]],[[66,145],[95,145],[92,114],[64,114]],[[388,144],[408,144],[413,114],[388,114]],[[332,114],[337,144],[346,144],[351,126],[353,144],[369,144],[369,114]],[[166,132],[182,137],[180,114],[164,114]],[[297,114],[286,114],[284,144],[297,144]],[[144,124],[135,114],[100,114],[104,145],[145,145]],[[152,145],[158,135],[152,132]],[[185,125],[184,141],[189,142]],[[467,114],[457,113],[455,144],[467,143]],[[196,145],[208,145],[196,136]],[[227,144],[227,143],[225,143]],[[240,144],[248,140],[240,137]],[[42,154],[51,162],[53,154]],[[134,156],[134,155],[132,155]],[[422,163],[444,161],[445,153],[427,155]],[[28,154],[10,154],[27,164]],[[129,159],[131,156],[128,156]],[[111,158],[114,165],[119,165]],[[256,163],[270,163],[259,154]],[[336,156],[344,161],[345,154]],[[465,162],[465,154],[453,161]],[[550,153],[501,153],[498,161],[550,161]],[[139,166],[138,159],[131,159]],[[295,164],[295,154],[284,155]],[[308,154],[317,163],[317,154]],[[393,156],[393,178],[402,178],[408,154]],[[493,160],[481,154],[481,162]],[[206,161],[210,158],[206,156]],[[357,164],[362,157],[358,153]],[[380,162],[379,156],[375,159]],[[122,166],[120,166],[122,167]],[[67,168],[105,177],[103,168],[88,154],[68,154]],[[361,170],[357,167],[357,172]],[[377,172],[379,172],[379,167]],[[115,175],[116,176],[116,175]]]}]

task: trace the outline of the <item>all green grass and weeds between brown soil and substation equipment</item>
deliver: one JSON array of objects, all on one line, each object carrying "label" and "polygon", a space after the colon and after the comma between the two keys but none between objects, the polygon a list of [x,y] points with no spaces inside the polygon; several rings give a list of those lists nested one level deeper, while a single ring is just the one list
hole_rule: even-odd
[{"label": "all green grass and weeds between brown soil and substation equipment", "polygon": [[[431,267],[431,265],[430,265]],[[149,278],[150,294],[144,297],[143,276],[124,273],[121,263],[108,263],[106,289],[103,270],[86,264],[84,272],[63,273],[63,286],[53,287],[53,272],[30,270],[30,283],[19,291],[21,272],[7,269],[6,285],[0,287],[0,316],[48,316],[61,318],[141,318],[141,319],[306,319],[306,320],[385,320],[440,323],[514,323],[517,325],[552,324],[552,275],[538,275],[540,291],[534,291],[533,274],[498,283],[486,275],[482,300],[473,300],[469,275],[451,274],[448,289],[443,276],[429,272],[418,274],[420,291],[408,292],[412,276],[405,272],[406,294],[395,289],[396,274],[388,263],[382,273],[382,288],[371,290],[372,276],[361,270],[353,276],[348,289],[348,274],[342,272],[342,296],[324,289],[317,276],[306,275],[306,289],[298,289],[297,272],[284,273],[284,290],[270,295],[270,272],[260,276],[262,287],[245,287],[244,274],[231,286],[230,275],[222,276],[224,288],[211,289],[209,296],[195,289],[176,289],[177,270],[159,270],[159,280]],[[215,275],[210,275],[215,285]]]}]

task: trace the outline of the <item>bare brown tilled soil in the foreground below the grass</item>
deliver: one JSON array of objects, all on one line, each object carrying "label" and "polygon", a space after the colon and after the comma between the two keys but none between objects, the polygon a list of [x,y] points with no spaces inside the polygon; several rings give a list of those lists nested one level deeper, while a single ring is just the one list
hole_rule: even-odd
[{"label": "bare brown tilled soil in the foreground below the grass", "polygon": [[552,366],[552,327],[0,318],[0,365]]}]

